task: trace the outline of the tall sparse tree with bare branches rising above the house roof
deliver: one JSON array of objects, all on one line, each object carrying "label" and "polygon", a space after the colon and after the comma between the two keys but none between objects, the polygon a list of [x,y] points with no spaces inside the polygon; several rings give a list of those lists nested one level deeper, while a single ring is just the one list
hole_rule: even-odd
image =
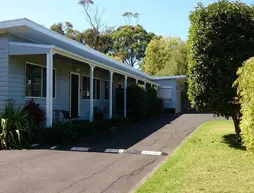
[{"label": "tall sparse tree with bare branches rising above the house roof", "polygon": [[90,36],[89,41],[91,48],[98,50],[100,31],[102,31],[106,23],[102,20],[103,13],[101,13],[97,7],[94,9],[91,8],[91,5],[94,4],[92,0],[79,0],[79,4],[84,8],[85,18],[90,25],[90,31],[88,33]]}]

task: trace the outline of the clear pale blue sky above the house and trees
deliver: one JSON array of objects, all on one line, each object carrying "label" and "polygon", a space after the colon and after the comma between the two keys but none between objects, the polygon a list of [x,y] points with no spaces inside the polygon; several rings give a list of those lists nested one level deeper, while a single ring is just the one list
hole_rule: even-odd
[{"label": "clear pale blue sky above the house and trees", "polygon": [[[3,0],[2,0],[3,1]],[[200,0],[94,0],[103,11],[107,26],[126,24],[124,12],[138,12],[139,24],[156,35],[180,37],[187,40],[189,14]],[[201,0],[205,5],[215,0]],[[254,4],[254,0],[242,0]],[[0,21],[28,18],[46,27],[69,21],[75,29],[86,30],[89,24],[78,0],[8,0],[1,3]]]}]

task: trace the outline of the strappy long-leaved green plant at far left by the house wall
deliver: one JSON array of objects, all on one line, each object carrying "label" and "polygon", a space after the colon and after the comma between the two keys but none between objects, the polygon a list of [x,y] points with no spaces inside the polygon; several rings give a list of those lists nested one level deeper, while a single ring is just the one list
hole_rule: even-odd
[{"label": "strappy long-leaved green plant at far left by the house wall", "polygon": [[8,100],[0,120],[1,148],[22,148],[28,145],[26,136],[30,137],[29,122],[21,106],[16,107],[13,100]]}]

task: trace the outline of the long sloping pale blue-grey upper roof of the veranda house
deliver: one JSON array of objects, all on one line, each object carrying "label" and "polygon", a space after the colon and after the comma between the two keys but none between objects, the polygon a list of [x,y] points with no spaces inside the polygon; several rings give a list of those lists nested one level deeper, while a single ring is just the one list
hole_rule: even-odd
[{"label": "long sloping pale blue-grey upper roof of the veranda house", "polygon": [[39,25],[27,18],[0,22],[0,34],[1,33],[12,33],[35,43],[52,45],[87,58],[90,61],[95,61],[110,68],[127,72],[141,79],[150,81],[154,80],[154,78],[148,74],[145,74],[127,64],[123,64],[122,62]]}]

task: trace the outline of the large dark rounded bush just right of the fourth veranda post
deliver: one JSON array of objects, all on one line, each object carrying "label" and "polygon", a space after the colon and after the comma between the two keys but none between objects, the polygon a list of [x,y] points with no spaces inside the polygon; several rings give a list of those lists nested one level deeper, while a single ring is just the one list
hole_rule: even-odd
[{"label": "large dark rounded bush just right of the fourth veranda post", "polygon": [[147,117],[148,97],[144,86],[130,86],[127,91],[127,109],[129,115],[144,119]]}]

